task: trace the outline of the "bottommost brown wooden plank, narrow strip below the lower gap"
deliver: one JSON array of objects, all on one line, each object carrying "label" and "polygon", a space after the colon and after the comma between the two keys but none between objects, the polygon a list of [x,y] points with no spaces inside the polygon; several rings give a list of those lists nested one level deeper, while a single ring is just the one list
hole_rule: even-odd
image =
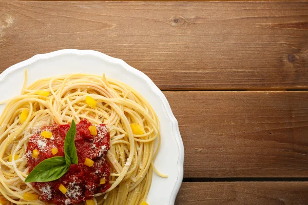
[{"label": "bottommost brown wooden plank, narrow strip below the lower gap", "polygon": [[308,182],[183,183],[176,205],[304,205]]}]

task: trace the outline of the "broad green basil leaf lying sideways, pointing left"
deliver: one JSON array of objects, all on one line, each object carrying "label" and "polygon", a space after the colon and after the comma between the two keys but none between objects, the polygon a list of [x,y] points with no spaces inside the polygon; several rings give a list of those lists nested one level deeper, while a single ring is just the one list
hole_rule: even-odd
[{"label": "broad green basil leaf lying sideways, pointing left", "polygon": [[28,175],[25,182],[46,182],[62,177],[69,167],[64,157],[51,157],[40,162]]}]

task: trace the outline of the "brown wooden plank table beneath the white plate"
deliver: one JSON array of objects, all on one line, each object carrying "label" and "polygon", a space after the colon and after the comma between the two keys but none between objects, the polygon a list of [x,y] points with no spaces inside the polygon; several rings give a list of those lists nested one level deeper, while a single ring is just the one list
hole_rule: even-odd
[{"label": "brown wooden plank table beneath the white plate", "polygon": [[185,147],[177,205],[308,204],[307,1],[0,0],[0,72],[65,48],[164,92]]}]

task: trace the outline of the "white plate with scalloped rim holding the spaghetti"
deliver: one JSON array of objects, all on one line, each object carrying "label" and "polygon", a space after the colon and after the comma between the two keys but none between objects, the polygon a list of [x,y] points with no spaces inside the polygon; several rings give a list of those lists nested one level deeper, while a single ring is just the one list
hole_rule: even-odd
[{"label": "white plate with scalloped rim holding the spaghetti", "polygon": [[[70,73],[106,74],[139,91],[156,111],[161,123],[162,145],[155,161],[159,171],[168,175],[153,175],[147,197],[150,205],[173,205],[183,179],[184,147],[178,121],[159,88],[141,71],[123,60],[91,50],[59,50],[35,55],[0,74],[0,101],[20,95],[24,70],[28,70],[28,85],[35,80]],[[0,106],[0,114],[4,105]]]}]

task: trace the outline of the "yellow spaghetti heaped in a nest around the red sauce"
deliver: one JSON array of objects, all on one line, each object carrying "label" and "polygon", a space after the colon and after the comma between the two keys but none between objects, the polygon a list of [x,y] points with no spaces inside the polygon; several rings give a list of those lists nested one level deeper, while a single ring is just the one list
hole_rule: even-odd
[{"label": "yellow spaghetti heaped in a nest around the red sauce", "polygon": [[7,103],[0,117],[0,200],[46,204],[25,197],[38,193],[31,183],[24,182],[29,174],[28,141],[43,127],[72,120],[103,123],[110,133],[106,155],[110,188],[96,193],[93,204],[139,205],[147,197],[152,172],[167,177],[153,166],[160,147],[158,117],[136,90],[105,75],[62,75],[26,84],[27,72],[22,94],[0,103]]}]

